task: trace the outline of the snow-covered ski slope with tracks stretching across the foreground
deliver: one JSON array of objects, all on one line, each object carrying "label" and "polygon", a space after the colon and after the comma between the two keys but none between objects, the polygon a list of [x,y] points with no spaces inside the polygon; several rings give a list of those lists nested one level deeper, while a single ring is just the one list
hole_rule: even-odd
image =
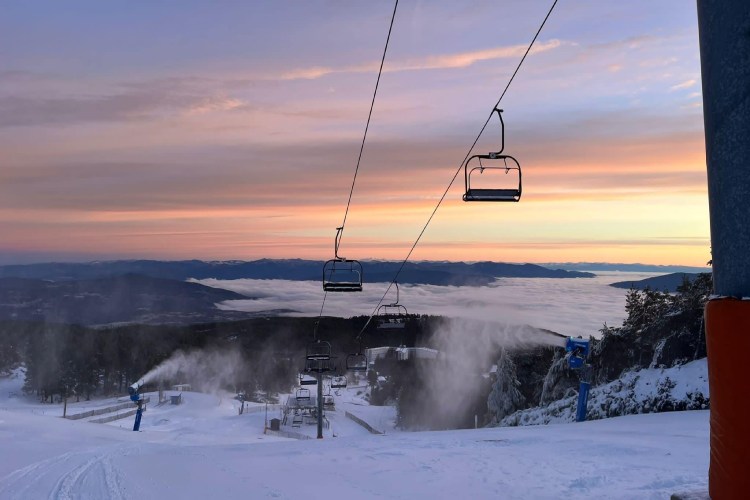
[{"label": "snow-covered ski slope with tracks stretching across the foreground", "polygon": [[377,436],[343,410],[387,427],[392,409],[355,391],[329,413],[338,437],[301,441],[264,435],[264,412],[238,415],[226,397],[152,404],[134,433],[132,418],[59,418],[60,405],[0,380],[0,498],[668,498],[706,487],[707,411]]}]

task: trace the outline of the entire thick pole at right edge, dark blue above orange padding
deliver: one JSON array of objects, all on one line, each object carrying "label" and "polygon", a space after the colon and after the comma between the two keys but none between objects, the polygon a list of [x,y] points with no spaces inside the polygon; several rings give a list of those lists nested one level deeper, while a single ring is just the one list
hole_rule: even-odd
[{"label": "entire thick pole at right edge, dark blue above orange padding", "polygon": [[708,205],[716,298],[706,305],[711,498],[750,491],[744,367],[750,350],[750,4],[698,0]]}]

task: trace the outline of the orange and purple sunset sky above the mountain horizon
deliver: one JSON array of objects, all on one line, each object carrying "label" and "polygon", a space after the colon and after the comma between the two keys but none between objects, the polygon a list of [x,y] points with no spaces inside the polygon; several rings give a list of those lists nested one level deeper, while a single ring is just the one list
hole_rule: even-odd
[{"label": "orange and purple sunset sky above the mountain horizon", "polygon": [[[405,257],[550,5],[400,1],[342,255]],[[392,10],[4,3],[0,263],[332,257]],[[561,0],[535,47],[521,202],[459,176],[413,259],[704,265],[694,2]]]}]

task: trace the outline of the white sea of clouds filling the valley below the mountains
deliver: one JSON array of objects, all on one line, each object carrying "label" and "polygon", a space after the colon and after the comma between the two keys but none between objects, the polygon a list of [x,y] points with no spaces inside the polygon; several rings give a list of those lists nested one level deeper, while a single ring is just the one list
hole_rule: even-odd
[{"label": "white sea of clouds filling the valley below the mountains", "polygon": [[[648,275],[651,276],[651,275]],[[633,273],[602,273],[590,279],[500,279],[487,287],[401,285],[400,303],[412,314],[443,315],[509,325],[531,325],[564,335],[595,335],[606,322],[619,325],[625,318],[626,290],[608,286]],[[285,280],[200,280],[253,300],[233,300],[221,309],[272,311],[290,309],[294,315],[313,316],[320,311],[323,291],[318,282]],[[328,294],[324,315],[369,315],[387,283],[367,283],[362,293]],[[386,298],[384,303],[395,300]]]}]

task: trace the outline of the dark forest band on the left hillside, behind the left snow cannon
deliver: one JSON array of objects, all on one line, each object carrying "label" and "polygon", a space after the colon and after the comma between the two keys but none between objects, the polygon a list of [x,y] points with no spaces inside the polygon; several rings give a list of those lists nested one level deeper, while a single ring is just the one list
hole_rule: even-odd
[{"label": "dark forest band on the left hillside, behind the left snow cannon", "polygon": [[[240,360],[233,362],[235,369],[219,381],[222,389],[249,395],[288,392],[298,382],[316,321],[317,318],[265,317],[189,326],[106,328],[2,321],[0,375],[24,363],[24,388],[40,400],[52,402],[65,395],[89,399],[124,394],[128,385],[176,352],[202,351],[219,359],[226,355]],[[331,342],[334,354],[343,361],[348,353],[359,349],[353,339],[366,321],[365,317],[324,317],[317,331],[319,338]],[[366,333],[363,340],[368,347],[403,342],[414,345],[435,321],[438,318],[414,316],[398,336]],[[189,382],[200,386],[200,381]]]}]

